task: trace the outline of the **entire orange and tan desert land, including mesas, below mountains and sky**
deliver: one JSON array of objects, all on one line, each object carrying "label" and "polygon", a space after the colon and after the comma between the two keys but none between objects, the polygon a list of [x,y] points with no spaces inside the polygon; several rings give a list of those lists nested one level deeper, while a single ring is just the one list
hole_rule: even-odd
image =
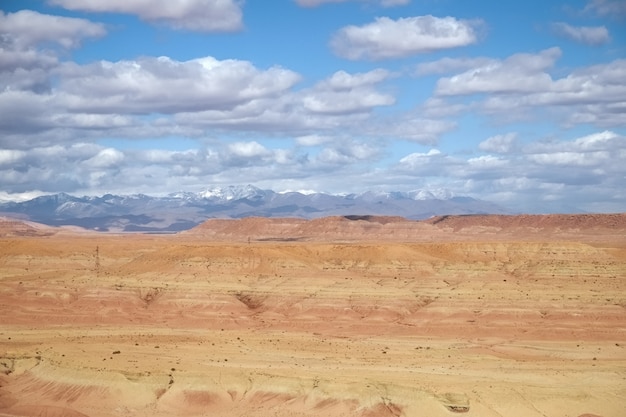
[{"label": "entire orange and tan desert land, including mesas, below mountains and sky", "polygon": [[626,214],[0,221],[0,416],[625,413]]}]

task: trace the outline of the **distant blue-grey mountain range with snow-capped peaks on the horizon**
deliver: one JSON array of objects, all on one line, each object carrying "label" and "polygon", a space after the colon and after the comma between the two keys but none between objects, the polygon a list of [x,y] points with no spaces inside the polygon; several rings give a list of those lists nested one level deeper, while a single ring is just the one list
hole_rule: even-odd
[{"label": "distant blue-grey mountain range with snow-capped peaks on the horizon", "polygon": [[75,197],[52,194],[0,204],[0,213],[51,226],[73,225],[100,231],[176,232],[211,218],[380,215],[421,220],[445,214],[511,214],[496,204],[454,196],[447,190],[333,195],[275,192],[252,185],[177,192]]}]

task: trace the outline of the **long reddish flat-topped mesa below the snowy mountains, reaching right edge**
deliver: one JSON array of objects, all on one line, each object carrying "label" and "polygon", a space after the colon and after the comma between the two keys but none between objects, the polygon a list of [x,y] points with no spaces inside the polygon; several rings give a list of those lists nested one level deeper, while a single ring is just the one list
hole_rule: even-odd
[{"label": "long reddish flat-topped mesa below the snowy mountains, reaching right edge", "polygon": [[[602,232],[602,233],[599,233]],[[185,235],[233,241],[431,241],[481,236],[489,240],[542,240],[548,236],[626,236],[626,213],[549,215],[445,215],[427,220],[345,215],[302,218],[211,219]]]}]

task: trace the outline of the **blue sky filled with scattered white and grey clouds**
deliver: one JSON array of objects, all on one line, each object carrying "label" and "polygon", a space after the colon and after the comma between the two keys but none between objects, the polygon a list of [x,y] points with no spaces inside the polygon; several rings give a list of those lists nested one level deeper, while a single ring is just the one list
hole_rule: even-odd
[{"label": "blue sky filled with scattered white and grey clouds", "polygon": [[0,200],[246,184],[626,211],[626,1],[0,3]]}]

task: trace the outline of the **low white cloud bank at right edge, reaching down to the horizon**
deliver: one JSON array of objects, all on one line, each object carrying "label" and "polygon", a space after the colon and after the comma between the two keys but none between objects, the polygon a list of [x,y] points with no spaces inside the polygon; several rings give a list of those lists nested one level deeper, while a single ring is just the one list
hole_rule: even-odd
[{"label": "low white cloud bank at right edge, reaching down to the horizon", "polygon": [[616,190],[626,178],[626,137],[602,131],[573,140],[515,143],[510,152],[513,138],[509,133],[483,142],[482,150],[500,153],[495,156],[412,153],[385,175],[403,182],[441,181],[458,194],[488,195],[522,212],[623,211],[626,193]]}]

